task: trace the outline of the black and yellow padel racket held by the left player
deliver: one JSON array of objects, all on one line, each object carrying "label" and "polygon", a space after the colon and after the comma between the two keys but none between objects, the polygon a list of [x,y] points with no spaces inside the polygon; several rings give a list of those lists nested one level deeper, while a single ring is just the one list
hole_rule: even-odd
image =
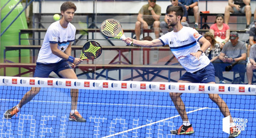
[{"label": "black and yellow padel racket held by the left player", "polygon": [[96,59],[101,55],[101,53],[102,47],[99,42],[91,40],[84,44],[80,58],[82,60]]}]

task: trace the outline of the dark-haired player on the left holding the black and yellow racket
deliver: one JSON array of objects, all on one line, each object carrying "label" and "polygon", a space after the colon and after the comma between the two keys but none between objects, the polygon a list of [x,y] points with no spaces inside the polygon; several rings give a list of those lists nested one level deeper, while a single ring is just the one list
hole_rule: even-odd
[{"label": "dark-haired player on the left holding the black and yellow racket", "polygon": [[[70,22],[73,20],[76,5],[65,2],[60,7],[62,18],[50,25],[47,29],[43,45],[39,51],[36,62],[34,77],[48,77],[53,71],[60,77],[66,79],[77,79],[74,70],[69,63],[78,65],[82,59],[71,55],[71,42],[75,40],[76,28]],[[69,63],[68,63],[69,62]],[[32,100],[41,88],[31,88],[20,100],[17,106],[5,111],[4,117],[11,118],[20,111],[20,108]],[[86,122],[77,111],[78,90],[71,89],[71,111],[69,120],[76,122]]]}]

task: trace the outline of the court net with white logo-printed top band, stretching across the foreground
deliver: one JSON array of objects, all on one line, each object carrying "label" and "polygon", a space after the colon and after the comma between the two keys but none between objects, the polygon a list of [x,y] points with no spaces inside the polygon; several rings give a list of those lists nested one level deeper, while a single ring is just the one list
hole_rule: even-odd
[{"label": "court net with white logo-printed top band, stretching across the foreground", "polygon": [[[256,135],[255,85],[142,81],[70,80],[0,76],[0,137],[180,137],[182,124],[169,92],[183,93],[194,134],[228,137],[227,118],[207,93],[219,93],[241,135]],[[31,87],[41,87],[18,116],[4,118]],[[85,123],[69,121],[70,88],[79,89],[78,111]],[[229,119],[228,119],[229,120]]]}]

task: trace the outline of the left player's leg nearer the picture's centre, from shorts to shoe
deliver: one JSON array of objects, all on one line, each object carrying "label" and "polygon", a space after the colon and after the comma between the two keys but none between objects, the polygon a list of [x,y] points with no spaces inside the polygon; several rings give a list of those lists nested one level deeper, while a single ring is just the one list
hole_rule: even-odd
[{"label": "left player's leg nearer the picture's centre, from shorts to shoe", "polygon": [[[54,72],[58,73],[58,75],[66,79],[77,79],[76,73],[65,61],[59,63],[58,69]],[[86,122],[86,119],[84,119],[77,111],[78,93],[78,89],[70,89],[71,110],[69,114],[69,120],[76,122]]]}]

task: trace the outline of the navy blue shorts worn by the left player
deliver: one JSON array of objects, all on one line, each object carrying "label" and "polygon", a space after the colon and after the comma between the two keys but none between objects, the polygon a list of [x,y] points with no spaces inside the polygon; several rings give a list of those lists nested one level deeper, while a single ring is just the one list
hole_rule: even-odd
[{"label": "navy blue shorts worn by the left player", "polygon": [[[49,77],[51,72],[56,73],[58,76],[59,72],[71,68],[67,61],[61,60],[58,63],[36,63],[36,70],[34,77]],[[61,76],[60,76],[61,77]]]}]

